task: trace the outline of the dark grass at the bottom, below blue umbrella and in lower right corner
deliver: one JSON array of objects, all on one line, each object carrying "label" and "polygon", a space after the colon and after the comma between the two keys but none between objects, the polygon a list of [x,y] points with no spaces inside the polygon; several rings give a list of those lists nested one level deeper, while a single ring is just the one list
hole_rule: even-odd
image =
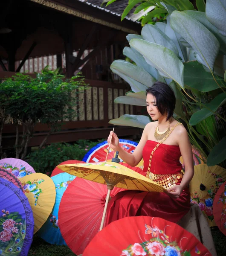
[{"label": "dark grass at the bottom, below blue umbrella and in lower right corner", "polygon": [[[217,256],[226,255],[226,236],[217,227],[211,228]],[[53,245],[46,243],[38,235],[34,235],[32,246],[28,256],[76,256],[69,247],[64,245]]]}]

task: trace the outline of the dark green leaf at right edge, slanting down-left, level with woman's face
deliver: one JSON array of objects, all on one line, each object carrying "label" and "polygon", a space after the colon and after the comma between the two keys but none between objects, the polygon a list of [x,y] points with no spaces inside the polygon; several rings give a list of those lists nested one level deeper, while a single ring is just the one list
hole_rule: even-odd
[{"label": "dark green leaf at right edge, slanting down-left, level with woman's face", "polygon": [[212,102],[209,102],[206,104],[207,108],[202,108],[200,111],[197,111],[196,113],[194,113],[189,120],[189,124],[197,125],[199,122],[206,119],[208,116],[212,116],[214,114],[213,112],[217,111],[217,109],[220,108],[220,106],[222,106],[225,103],[226,103],[226,94],[220,93],[212,100]]}]

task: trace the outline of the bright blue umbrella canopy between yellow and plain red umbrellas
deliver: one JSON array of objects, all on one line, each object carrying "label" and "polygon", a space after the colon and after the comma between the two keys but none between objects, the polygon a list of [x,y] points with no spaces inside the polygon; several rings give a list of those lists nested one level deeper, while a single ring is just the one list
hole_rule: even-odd
[{"label": "bright blue umbrella canopy between yellow and plain red umbrellas", "polygon": [[[70,175],[66,172],[59,173],[51,178],[55,184],[56,190],[56,201],[54,208],[49,215],[49,218],[45,224],[38,230],[38,236],[44,239],[50,244],[67,245],[61,236],[61,231],[58,226],[58,211],[61,202],[61,198],[67,189],[68,185],[75,179],[75,176]],[[71,203],[69,204],[71,207]]]}]

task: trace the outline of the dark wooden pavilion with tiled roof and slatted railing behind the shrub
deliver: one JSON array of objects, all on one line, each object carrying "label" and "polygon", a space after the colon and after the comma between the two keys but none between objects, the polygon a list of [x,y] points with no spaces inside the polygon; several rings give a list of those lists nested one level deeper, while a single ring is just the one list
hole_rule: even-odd
[{"label": "dark wooden pavilion with tiled roof and slatted railing behind the shrub", "polygon": [[[62,130],[52,134],[47,143],[107,137],[110,119],[137,108],[114,104],[117,96],[129,90],[110,64],[122,58],[126,35],[140,33],[137,16],[121,22],[127,0],[107,8],[101,0],[14,0],[0,3],[0,78],[15,72],[39,72],[47,64],[62,67],[71,77],[81,70],[90,89],[81,94],[79,116],[65,121]],[[32,75],[32,74],[31,74]],[[21,127],[22,131],[22,127]],[[48,127],[38,124],[29,146],[39,145]],[[3,145],[12,145],[15,127],[6,124]],[[118,127],[119,136],[133,136],[139,128]]]}]

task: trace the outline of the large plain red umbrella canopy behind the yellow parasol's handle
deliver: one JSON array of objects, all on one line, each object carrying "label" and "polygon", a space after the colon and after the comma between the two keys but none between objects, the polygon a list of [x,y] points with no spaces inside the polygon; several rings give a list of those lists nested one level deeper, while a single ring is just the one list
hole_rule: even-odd
[{"label": "large plain red umbrella canopy behind the yellow parasol's handle", "polygon": [[[110,198],[123,190],[113,188]],[[73,253],[83,253],[98,233],[106,196],[107,186],[78,177],[64,192],[59,208],[59,227]]]}]

